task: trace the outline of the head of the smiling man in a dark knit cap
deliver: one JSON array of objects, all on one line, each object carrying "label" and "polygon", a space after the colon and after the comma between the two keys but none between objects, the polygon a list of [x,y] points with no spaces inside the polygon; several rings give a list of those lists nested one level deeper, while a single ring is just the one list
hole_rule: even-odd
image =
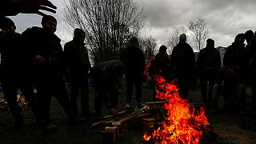
[{"label": "head of the smiling man in a dark knit cap", "polygon": [[46,30],[47,32],[50,32],[50,33],[53,33],[53,34],[55,33],[56,26],[57,26],[57,20],[53,16],[44,15],[42,17],[41,24],[42,24],[42,29],[43,30]]}]

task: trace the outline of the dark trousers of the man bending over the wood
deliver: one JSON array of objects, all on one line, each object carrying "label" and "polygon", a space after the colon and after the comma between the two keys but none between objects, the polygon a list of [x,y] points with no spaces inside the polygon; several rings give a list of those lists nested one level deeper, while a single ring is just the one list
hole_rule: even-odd
[{"label": "dark trousers of the man bending over the wood", "polygon": [[118,104],[118,87],[115,85],[98,85],[96,86],[98,94],[94,99],[94,109],[97,114],[102,114],[103,103],[108,110],[116,108]]}]

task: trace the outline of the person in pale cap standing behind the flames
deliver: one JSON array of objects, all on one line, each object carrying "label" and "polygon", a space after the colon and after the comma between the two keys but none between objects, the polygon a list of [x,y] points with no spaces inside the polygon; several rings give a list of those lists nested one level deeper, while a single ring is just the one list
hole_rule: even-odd
[{"label": "person in pale cap standing behind the flames", "polygon": [[195,77],[195,59],[192,47],[186,43],[186,34],[179,36],[178,45],[174,46],[170,55],[170,66],[174,78],[178,79],[180,97],[187,99]]}]

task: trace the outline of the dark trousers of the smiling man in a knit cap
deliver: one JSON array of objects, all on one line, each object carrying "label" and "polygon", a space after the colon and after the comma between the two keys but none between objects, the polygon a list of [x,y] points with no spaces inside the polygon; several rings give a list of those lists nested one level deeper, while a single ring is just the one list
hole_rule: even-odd
[{"label": "dark trousers of the smiling man in a knit cap", "polygon": [[38,78],[36,89],[38,93],[38,122],[50,122],[50,102],[52,94],[54,94],[68,117],[71,116],[69,97],[65,82],[61,76]]}]

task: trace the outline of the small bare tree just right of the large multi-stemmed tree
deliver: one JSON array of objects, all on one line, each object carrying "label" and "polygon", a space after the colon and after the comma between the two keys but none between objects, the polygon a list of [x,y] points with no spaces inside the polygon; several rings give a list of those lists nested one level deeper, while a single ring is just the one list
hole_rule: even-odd
[{"label": "small bare tree just right of the large multi-stemmed tree", "polygon": [[157,42],[152,36],[149,38],[142,38],[140,43],[146,58],[150,58],[156,53]]}]

